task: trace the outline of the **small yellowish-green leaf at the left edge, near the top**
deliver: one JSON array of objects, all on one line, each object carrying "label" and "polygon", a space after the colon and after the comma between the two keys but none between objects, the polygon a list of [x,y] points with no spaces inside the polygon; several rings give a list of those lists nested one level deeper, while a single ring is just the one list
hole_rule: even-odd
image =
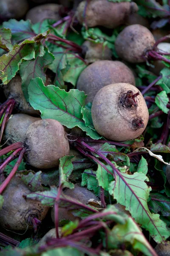
[{"label": "small yellowish-green leaf at the left edge, near the top", "polygon": [[0,29],[0,48],[6,51],[12,49],[10,29],[6,29],[6,28]]}]

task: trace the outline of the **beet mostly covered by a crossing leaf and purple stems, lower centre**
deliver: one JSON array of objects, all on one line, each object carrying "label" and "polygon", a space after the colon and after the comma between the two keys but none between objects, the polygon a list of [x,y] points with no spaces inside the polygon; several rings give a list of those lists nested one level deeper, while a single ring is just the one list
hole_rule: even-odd
[{"label": "beet mostly covered by a crossing leaf and purple stems, lower centre", "polygon": [[[74,199],[77,199],[82,204],[87,204],[88,200],[92,198],[95,201],[99,201],[99,198],[97,198],[93,192],[79,186],[79,184],[75,184],[74,189],[65,190],[64,194]],[[52,218],[52,221],[54,221],[54,207],[51,209],[51,218]],[[75,221],[77,217],[75,217],[69,210],[64,208],[59,208],[59,221],[62,221],[64,219],[69,221]]]}]

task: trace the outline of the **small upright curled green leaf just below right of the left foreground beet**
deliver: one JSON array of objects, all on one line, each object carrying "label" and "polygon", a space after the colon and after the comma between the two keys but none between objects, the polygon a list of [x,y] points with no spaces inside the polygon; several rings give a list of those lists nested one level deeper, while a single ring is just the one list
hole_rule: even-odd
[{"label": "small upright curled green leaf just below right of the left foreground beet", "polygon": [[63,187],[73,189],[74,184],[68,182],[68,179],[73,171],[73,164],[71,158],[74,156],[64,156],[59,159],[59,183]]}]

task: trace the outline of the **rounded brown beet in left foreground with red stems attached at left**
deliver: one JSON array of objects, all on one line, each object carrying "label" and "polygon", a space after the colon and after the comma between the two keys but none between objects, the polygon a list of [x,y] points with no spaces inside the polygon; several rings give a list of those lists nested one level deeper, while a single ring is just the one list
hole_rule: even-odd
[{"label": "rounded brown beet in left foreground with red stems attached at left", "polygon": [[24,147],[27,162],[36,168],[59,166],[59,158],[69,155],[69,143],[63,126],[54,119],[32,123],[26,132]]}]

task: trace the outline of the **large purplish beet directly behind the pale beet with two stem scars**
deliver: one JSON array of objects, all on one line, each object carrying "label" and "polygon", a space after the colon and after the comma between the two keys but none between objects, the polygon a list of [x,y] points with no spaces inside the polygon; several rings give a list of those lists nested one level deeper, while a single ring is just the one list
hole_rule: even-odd
[{"label": "large purplish beet directly behind the pale beet with two stem scars", "polygon": [[135,85],[132,71],[120,61],[96,61],[82,71],[77,89],[87,94],[86,103],[93,102],[96,93],[108,84],[130,83]]}]

